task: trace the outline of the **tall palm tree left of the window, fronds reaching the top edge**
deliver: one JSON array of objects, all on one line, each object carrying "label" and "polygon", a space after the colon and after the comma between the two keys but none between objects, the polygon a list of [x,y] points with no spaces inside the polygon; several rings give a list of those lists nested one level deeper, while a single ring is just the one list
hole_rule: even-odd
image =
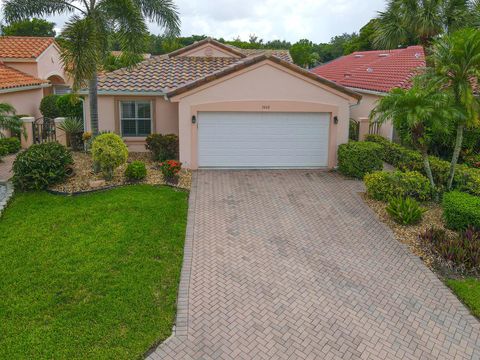
[{"label": "tall palm tree left of the window, fronds reaching the top edge", "polygon": [[61,34],[62,59],[78,91],[88,85],[90,121],[98,132],[97,72],[108,53],[108,35],[116,33],[125,56],[144,50],[146,21],[177,35],[180,20],[172,0],[6,0],[9,22],[34,16],[71,15]]}]

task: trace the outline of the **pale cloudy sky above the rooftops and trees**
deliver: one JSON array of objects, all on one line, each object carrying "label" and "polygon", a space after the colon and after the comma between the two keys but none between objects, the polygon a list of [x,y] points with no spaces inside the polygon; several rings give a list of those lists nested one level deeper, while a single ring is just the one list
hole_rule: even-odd
[{"label": "pale cloudy sky above the rooftops and trees", "polygon": [[[0,4],[4,0],[0,0]],[[335,35],[358,32],[386,0],[174,0],[182,21],[182,35],[208,35],[265,41],[328,42]],[[67,16],[48,18],[60,30]],[[162,29],[150,24],[154,34]]]}]

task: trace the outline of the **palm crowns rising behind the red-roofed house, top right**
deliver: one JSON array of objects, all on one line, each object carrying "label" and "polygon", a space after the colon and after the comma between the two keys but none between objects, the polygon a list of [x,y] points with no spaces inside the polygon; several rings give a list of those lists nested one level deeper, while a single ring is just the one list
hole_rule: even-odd
[{"label": "palm crowns rising behind the red-roofed house, top right", "polygon": [[387,49],[418,44],[428,52],[438,35],[471,23],[472,7],[471,0],[389,0],[379,12],[375,43]]}]

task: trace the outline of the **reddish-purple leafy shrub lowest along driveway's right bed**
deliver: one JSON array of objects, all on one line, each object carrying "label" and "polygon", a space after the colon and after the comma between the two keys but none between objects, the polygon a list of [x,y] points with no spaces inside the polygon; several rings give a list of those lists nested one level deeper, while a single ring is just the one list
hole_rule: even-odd
[{"label": "reddish-purple leafy shrub lowest along driveway's right bed", "polygon": [[480,266],[480,232],[472,227],[454,236],[432,227],[420,234],[419,239],[430,251],[457,268],[473,270]]}]

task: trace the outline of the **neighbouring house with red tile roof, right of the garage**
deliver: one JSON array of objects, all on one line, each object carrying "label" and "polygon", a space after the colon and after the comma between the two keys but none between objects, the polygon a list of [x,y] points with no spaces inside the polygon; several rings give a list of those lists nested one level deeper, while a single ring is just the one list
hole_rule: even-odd
[{"label": "neighbouring house with red tile roof, right of the garage", "polygon": [[[410,46],[406,49],[355,52],[311,71],[362,94],[361,102],[352,106],[350,115],[360,121],[370,116],[378,99],[390,90],[410,87],[412,77],[423,67],[423,48]],[[378,132],[389,139],[394,137],[391,122],[380,128],[372,126],[371,132]]]}]

